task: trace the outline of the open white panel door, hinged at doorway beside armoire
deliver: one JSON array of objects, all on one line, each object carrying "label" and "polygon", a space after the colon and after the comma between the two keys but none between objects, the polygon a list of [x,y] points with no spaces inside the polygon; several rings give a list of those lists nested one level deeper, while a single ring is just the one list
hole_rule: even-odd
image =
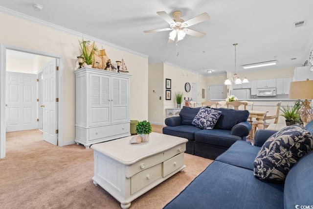
[{"label": "open white panel door, hinged at doorway beside armoire", "polygon": [[57,145],[58,135],[57,127],[57,102],[58,80],[56,70],[57,60],[52,60],[44,64],[43,70],[43,137],[44,140]]}]

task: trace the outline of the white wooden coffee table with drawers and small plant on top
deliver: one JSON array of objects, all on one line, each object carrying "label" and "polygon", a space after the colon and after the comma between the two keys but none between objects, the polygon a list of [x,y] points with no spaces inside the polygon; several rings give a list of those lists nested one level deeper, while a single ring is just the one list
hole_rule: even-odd
[{"label": "white wooden coffee table with drawers and small plant on top", "polygon": [[95,185],[127,209],[131,202],[179,171],[183,171],[187,139],[151,133],[149,142],[131,144],[131,137],[91,145]]}]

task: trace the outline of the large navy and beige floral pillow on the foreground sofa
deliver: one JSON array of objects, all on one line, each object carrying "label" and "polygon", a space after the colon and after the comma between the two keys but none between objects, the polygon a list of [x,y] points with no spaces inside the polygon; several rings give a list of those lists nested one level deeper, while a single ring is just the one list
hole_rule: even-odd
[{"label": "large navy and beige floral pillow on the foreground sofa", "polygon": [[313,138],[300,125],[291,125],[270,136],[254,160],[254,176],[282,183],[291,167],[313,149]]}]

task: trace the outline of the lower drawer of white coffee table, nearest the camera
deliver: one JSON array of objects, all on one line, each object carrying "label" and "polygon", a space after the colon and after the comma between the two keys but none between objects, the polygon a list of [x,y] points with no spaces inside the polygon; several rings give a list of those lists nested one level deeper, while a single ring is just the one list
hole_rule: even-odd
[{"label": "lower drawer of white coffee table, nearest the camera", "polygon": [[131,194],[162,178],[162,163],[147,168],[131,178]]}]

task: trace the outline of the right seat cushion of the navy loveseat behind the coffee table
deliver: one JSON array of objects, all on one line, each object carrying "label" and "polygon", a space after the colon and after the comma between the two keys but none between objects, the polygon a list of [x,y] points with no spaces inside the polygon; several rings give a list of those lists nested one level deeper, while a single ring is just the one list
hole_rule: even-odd
[{"label": "right seat cushion of the navy loveseat behind the coffee table", "polygon": [[212,129],[201,130],[195,133],[195,141],[205,144],[213,144],[222,147],[230,147],[241,137],[231,135],[229,130]]}]

